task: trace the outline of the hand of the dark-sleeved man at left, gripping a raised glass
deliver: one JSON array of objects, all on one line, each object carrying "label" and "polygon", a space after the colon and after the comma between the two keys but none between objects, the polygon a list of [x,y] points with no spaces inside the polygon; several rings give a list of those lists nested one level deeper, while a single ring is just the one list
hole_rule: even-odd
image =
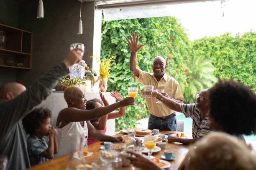
[{"label": "hand of the dark-sleeved man at left, gripping a raised glass", "polygon": [[77,52],[78,50],[83,51],[81,48],[75,48],[74,50],[70,50],[67,57],[63,60],[63,63],[66,65],[67,68],[82,60],[82,55],[80,52]]}]

